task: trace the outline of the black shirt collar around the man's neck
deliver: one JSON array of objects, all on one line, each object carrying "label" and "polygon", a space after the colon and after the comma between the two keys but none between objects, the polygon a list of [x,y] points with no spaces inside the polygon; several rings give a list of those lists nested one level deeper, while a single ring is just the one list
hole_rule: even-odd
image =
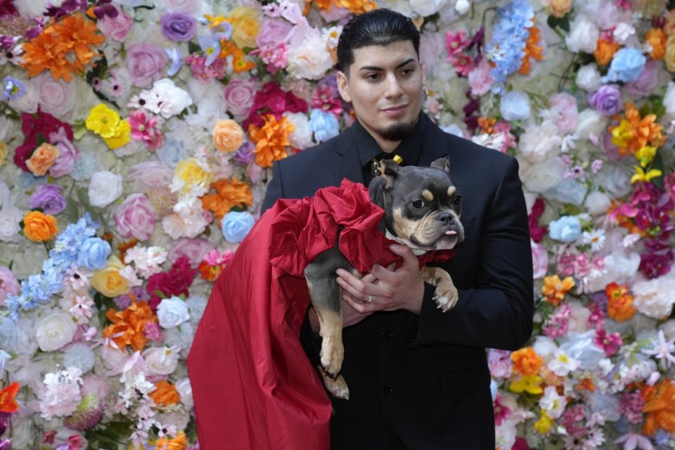
[{"label": "black shirt collar around the man's neck", "polygon": [[[420,160],[420,150],[427,131],[427,120],[427,116],[420,113],[419,120],[413,127],[413,132],[401,141],[392,152],[392,155],[399,155],[403,158],[404,165],[417,165]],[[362,166],[370,164],[371,160],[382,152],[377,141],[366,131],[359,120],[355,120],[352,124],[352,136]]]}]

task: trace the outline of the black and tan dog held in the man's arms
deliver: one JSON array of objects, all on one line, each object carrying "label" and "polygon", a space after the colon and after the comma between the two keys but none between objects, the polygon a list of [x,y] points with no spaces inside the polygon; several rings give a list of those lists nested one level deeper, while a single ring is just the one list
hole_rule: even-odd
[{"label": "black and tan dog held in the man's arms", "polygon": [[[415,255],[430,250],[450,250],[464,240],[460,221],[462,197],[450,179],[449,158],[440,158],[430,167],[399,167],[392,160],[380,162],[380,176],[368,185],[371,201],[385,210],[380,231],[390,240],[407,245]],[[321,253],[304,269],[311,304],[319,318],[321,372],[328,391],[349,399],[349,388],[340,375],[345,349],[342,345],[340,286],[337,269],[361,277],[337,245]],[[443,269],[424,266],[422,278],[435,285],[437,307],[443,312],[455,306],[457,288]]]}]

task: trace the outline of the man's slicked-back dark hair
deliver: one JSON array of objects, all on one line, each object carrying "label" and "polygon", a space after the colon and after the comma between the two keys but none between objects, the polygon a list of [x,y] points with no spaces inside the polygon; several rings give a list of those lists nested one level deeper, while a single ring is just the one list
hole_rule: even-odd
[{"label": "man's slicked-back dark hair", "polygon": [[356,49],[399,41],[412,41],[417,56],[420,56],[420,32],[410,18],[386,8],[355,15],[342,29],[338,40],[340,70],[349,75]]}]

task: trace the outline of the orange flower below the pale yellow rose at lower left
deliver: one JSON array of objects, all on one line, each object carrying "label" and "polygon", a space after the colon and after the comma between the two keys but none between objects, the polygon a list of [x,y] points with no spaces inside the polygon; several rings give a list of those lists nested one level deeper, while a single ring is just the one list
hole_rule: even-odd
[{"label": "orange flower below the pale yellow rose at lower left", "polygon": [[157,323],[157,316],[150,309],[148,302],[136,302],[135,300],[124,311],[108,309],[105,317],[113,324],[105,327],[103,338],[112,339],[121,350],[126,349],[127,345],[131,345],[131,348],[136,351],[142,350],[148,342],[144,333],[146,325]]}]

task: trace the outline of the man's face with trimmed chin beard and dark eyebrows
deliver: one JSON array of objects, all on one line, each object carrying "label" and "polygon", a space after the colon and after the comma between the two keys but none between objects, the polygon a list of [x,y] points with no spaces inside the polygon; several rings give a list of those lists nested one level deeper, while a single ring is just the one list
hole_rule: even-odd
[{"label": "man's face with trimmed chin beard and dark eyebrows", "polygon": [[364,128],[384,141],[408,136],[422,109],[425,82],[412,41],[356,49],[347,70],[349,77],[338,72],[338,89]]}]

